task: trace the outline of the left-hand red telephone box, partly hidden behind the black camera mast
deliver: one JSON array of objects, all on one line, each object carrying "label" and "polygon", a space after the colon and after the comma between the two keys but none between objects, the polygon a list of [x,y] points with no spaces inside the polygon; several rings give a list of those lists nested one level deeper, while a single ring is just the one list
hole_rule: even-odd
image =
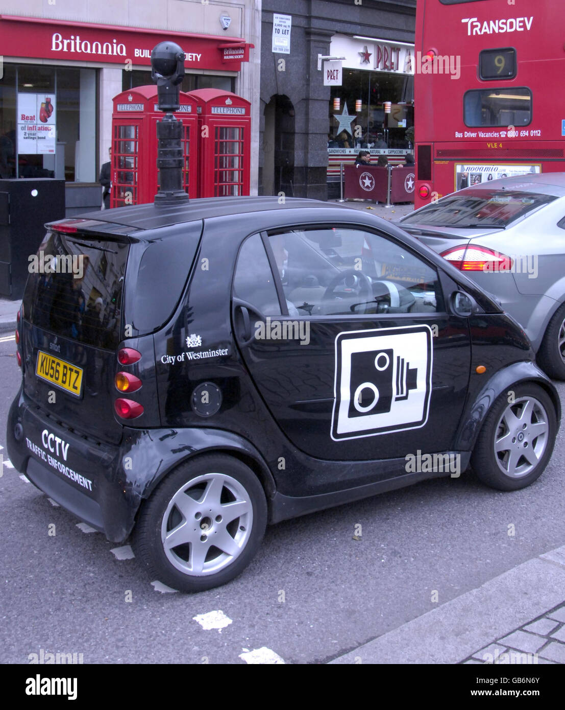
[{"label": "left-hand red telephone box, partly hidden behind the black camera mast", "polygon": [[[153,202],[159,187],[157,121],[164,115],[158,110],[155,84],[114,97],[110,207]],[[180,92],[180,109],[175,116],[184,126],[183,186],[190,197],[197,197],[197,111],[190,94]]]}]

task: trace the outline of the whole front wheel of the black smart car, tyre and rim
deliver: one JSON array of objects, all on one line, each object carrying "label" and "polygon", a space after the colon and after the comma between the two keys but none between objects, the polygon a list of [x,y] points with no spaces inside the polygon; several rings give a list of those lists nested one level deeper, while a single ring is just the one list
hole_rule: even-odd
[{"label": "whole front wheel of the black smart car, tyre and rim", "polygon": [[478,479],[498,491],[517,491],[542,475],[557,433],[554,404],[535,383],[524,383],[495,401],[471,455]]}]

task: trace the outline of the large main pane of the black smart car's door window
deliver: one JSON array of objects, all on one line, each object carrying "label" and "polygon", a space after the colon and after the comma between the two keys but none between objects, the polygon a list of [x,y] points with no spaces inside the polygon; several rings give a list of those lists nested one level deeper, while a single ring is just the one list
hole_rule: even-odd
[{"label": "large main pane of the black smart car's door window", "polygon": [[272,234],[289,307],[298,315],[444,310],[437,271],[391,239],[364,229],[292,229]]}]

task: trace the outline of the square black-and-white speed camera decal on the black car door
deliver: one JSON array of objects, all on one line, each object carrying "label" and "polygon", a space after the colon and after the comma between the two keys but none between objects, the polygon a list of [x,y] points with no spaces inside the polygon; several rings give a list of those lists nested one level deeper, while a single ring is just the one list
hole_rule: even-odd
[{"label": "square black-and-white speed camera decal on the black car door", "polygon": [[423,427],[432,360],[432,329],[427,325],[339,333],[331,438]]}]

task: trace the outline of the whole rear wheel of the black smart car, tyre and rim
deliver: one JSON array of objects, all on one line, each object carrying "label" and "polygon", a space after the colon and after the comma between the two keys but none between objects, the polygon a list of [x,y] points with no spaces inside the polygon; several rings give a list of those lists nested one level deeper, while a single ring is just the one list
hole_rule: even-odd
[{"label": "whole rear wheel of the black smart car, tyre and rim", "polygon": [[178,466],[143,503],[133,549],[152,579],[204,591],[243,571],[266,523],[265,493],[253,471],[224,454],[204,455]]}]

